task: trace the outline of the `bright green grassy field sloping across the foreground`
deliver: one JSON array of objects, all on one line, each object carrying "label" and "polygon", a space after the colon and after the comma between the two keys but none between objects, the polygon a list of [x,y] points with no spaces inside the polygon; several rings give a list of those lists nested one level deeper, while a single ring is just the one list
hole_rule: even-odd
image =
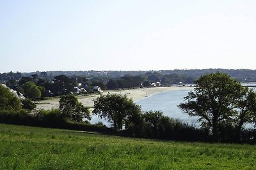
[{"label": "bright green grassy field sloping across the foreground", "polygon": [[256,146],[0,124],[0,169],[256,169]]}]

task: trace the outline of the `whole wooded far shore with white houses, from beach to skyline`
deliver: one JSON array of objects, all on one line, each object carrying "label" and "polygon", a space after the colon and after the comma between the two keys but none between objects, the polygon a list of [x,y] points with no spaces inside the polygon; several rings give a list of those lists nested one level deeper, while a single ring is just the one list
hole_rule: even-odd
[{"label": "whole wooded far shore with white houses, from beach to skyline", "polygon": [[198,76],[214,71],[227,72],[242,85],[255,87],[256,71],[244,69],[10,72],[0,73],[0,83],[12,89],[15,96],[42,99],[103,90],[193,85]]}]

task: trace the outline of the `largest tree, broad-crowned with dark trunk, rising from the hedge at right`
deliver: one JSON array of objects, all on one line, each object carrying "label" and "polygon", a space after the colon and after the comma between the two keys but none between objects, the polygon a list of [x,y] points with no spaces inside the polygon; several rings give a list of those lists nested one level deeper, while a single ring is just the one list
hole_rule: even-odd
[{"label": "largest tree, broad-crowned with dark trunk, rising from the hedge at right", "polygon": [[243,87],[225,73],[212,73],[195,81],[194,91],[189,92],[179,107],[190,116],[199,117],[204,127],[218,139],[218,129],[222,124],[230,124],[236,114],[234,106],[241,98]]}]

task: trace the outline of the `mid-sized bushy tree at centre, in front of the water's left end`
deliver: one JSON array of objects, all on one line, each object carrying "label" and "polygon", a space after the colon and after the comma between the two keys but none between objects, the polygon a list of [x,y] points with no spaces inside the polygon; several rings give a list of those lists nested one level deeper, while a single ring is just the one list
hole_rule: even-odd
[{"label": "mid-sized bushy tree at centre, in front of the water's left end", "polygon": [[105,118],[117,131],[122,130],[127,117],[140,112],[140,106],[134,104],[126,95],[107,94],[95,99],[92,112],[100,118]]}]

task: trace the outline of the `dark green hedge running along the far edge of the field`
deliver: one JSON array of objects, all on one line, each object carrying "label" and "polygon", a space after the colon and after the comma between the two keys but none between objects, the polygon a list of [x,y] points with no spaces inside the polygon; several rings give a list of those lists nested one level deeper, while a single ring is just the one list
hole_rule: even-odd
[{"label": "dark green hedge running along the far edge of the field", "polygon": [[[155,112],[156,113],[156,112]],[[89,122],[70,122],[59,109],[40,110],[36,113],[29,113],[26,110],[8,111],[0,110],[0,123],[29,125],[36,127],[51,127],[70,129],[76,131],[100,132],[102,134],[115,134],[119,136],[166,139],[177,141],[204,141],[211,142],[211,134],[206,129],[185,124],[180,120],[165,117],[160,114],[156,121],[148,120],[144,114],[138,124],[129,124],[125,130],[115,131],[103,124],[90,124]],[[155,115],[156,116],[156,115]],[[154,117],[151,117],[154,118]],[[155,117],[156,118],[156,117]],[[222,127],[221,142],[233,143],[234,129]],[[244,129],[241,134],[243,143],[256,143],[255,129]]]}]

